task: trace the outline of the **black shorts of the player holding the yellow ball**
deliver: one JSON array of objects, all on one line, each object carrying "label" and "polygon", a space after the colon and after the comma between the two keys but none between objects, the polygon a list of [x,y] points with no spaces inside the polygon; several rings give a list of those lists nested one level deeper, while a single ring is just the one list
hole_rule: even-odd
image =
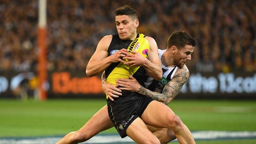
[{"label": "black shorts of the player holding the yellow ball", "polygon": [[138,99],[131,100],[115,105],[108,105],[108,115],[117,129],[121,138],[126,137],[126,129],[137,118],[141,117],[152,98],[140,96]]}]

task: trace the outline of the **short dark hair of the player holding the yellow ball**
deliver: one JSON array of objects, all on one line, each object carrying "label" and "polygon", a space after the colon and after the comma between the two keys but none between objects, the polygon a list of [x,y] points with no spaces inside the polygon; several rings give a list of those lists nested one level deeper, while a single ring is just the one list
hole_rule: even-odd
[{"label": "short dark hair of the player holding the yellow ball", "polygon": [[130,6],[122,6],[115,10],[115,16],[117,15],[128,15],[133,20],[138,19],[137,12]]}]

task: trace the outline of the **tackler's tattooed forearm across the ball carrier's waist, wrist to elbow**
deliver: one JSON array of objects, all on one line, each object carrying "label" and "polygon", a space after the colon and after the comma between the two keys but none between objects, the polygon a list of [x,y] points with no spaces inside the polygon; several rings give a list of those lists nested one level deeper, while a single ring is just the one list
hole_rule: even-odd
[{"label": "tackler's tattooed forearm across the ball carrier's waist, wrist to elbow", "polygon": [[144,96],[147,96],[149,98],[153,98],[154,100],[157,100],[158,102],[161,102],[165,105],[168,105],[172,100],[172,98],[170,98],[167,94],[152,92],[151,90],[148,90],[142,86],[139,88],[138,93]]}]

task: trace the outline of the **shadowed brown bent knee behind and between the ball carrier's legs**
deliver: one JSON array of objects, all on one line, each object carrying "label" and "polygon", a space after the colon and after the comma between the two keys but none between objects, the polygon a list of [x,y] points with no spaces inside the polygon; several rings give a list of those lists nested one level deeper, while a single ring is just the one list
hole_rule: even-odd
[{"label": "shadowed brown bent knee behind and between the ball carrier's legs", "polygon": [[173,131],[167,128],[156,128],[147,125],[148,129],[159,139],[161,144],[168,144],[172,140],[176,139]]}]

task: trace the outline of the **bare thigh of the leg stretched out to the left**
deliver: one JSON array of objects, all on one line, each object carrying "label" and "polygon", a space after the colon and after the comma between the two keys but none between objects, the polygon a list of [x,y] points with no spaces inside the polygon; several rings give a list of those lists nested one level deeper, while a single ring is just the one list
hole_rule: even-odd
[{"label": "bare thigh of the leg stretched out to the left", "polygon": [[86,134],[87,137],[93,137],[111,127],[113,127],[113,123],[108,116],[108,106],[105,105],[78,132]]}]

